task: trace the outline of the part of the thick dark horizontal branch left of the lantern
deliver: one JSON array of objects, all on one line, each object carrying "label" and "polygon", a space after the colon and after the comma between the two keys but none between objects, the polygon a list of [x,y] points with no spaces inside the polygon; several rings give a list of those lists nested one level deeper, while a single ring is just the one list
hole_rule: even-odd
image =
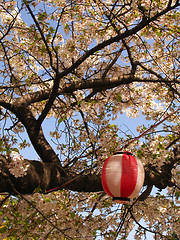
[{"label": "part of the thick dark horizontal branch left of the lantern", "polygon": [[101,191],[101,178],[99,175],[76,175],[69,174],[60,166],[52,163],[43,163],[40,161],[25,160],[29,164],[27,174],[24,177],[15,178],[8,173],[4,177],[5,172],[4,157],[0,156],[0,193],[12,192],[9,179],[15,189],[21,194],[32,194],[36,189],[42,192],[54,189],[70,189],[78,192],[97,192]]}]

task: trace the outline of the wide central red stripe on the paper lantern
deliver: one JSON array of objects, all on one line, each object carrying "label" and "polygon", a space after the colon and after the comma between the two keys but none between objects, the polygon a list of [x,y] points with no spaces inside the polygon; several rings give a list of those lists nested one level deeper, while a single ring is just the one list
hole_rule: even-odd
[{"label": "wide central red stripe on the paper lantern", "polygon": [[136,158],[122,155],[122,177],[121,177],[121,197],[128,198],[136,187],[138,176],[138,166]]}]

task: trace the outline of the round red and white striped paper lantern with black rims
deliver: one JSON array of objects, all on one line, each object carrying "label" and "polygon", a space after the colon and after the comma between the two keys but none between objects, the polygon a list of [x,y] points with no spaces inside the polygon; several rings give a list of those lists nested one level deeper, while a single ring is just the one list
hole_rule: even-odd
[{"label": "round red and white striped paper lantern with black rims", "polygon": [[104,191],[115,202],[127,203],[136,197],[144,184],[144,167],[129,152],[117,152],[106,159],[101,174]]}]

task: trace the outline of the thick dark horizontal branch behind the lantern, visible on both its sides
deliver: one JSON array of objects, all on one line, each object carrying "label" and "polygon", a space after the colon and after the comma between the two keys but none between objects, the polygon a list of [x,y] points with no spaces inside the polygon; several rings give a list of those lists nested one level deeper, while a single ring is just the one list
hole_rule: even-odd
[{"label": "thick dark horizontal branch behind the lantern, visible on both its sides", "polygon": [[[0,193],[11,193],[9,179],[21,194],[32,194],[36,189],[46,191],[69,189],[77,192],[98,192],[103,191],[100,175],[91,174],[72,174],[62,167],[52,164],[43,163],[40,161],[25,160],[30,167],[27,170],[27,175],[24,177],[15,178],[8,173],[8,177],[4,177],[6,171],[5,165],[2,164],[4,157],[0,157]],[[156,171],[152,166],[145,166],[145,182],[144,186],[156,186],[159,189],[164,189],[167,186],[172,187],[171,170],[174,165],[180,161],[180,148],[174,150],[174,157],[166,161],[161,167],[161,172]]]}]

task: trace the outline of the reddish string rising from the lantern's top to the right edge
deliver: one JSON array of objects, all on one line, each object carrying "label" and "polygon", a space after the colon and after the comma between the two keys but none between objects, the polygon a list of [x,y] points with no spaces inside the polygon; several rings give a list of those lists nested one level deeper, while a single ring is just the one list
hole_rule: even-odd
[{"label": "reddish string rising from the lantern's top to the right edge", "polygon": [[139,138],[141,138],[142,136],[144,136],[146,133],[148,133],[150,130],[154,129],[155,127],[159,126],[161,123],[163,123],[165,120],[167,120],[169,117],[171,117],[172,115],[174,115],[175,113],[177,113],[180,110],[180,107],[168,114],[165,118],[163,118],[161,121],[151,125],[146,131],[144,131],[143,133],[141,133],[139,136],[135,137],[134,139],[132,139],[131,141],[128,141],[124,146],[122,146],[118,151],[122,151],[123,149],[127,148],[131,143],[133,143],[134,141],[138,140]]}]

